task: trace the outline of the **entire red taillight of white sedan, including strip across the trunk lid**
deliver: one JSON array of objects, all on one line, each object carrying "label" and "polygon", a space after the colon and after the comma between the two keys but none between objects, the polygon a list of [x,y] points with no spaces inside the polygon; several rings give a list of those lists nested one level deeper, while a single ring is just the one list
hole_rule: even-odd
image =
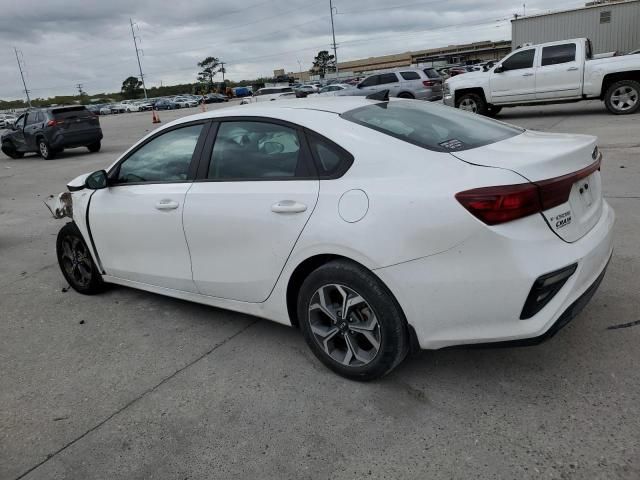
[{"label": "entire red taillight of white sedan, including strip across the trunk lid", "polygon": [[602,155],[577,172],[535,183],[501,185],[466,190],[456,200],[487,225],[498,225],[562,205],[569,200],[573,184],[600,170]]}]

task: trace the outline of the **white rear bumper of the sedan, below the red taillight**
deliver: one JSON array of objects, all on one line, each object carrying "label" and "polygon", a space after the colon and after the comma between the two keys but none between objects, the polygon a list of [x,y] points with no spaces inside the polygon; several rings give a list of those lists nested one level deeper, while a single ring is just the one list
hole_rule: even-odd
[{"label": "white rear bumper of the sedan, below the red taillight", "polygon": [[[446,252],[375,273],[396,295],[421,348],[536,343],[577,315],[599,285],[612,253],[614,221],[604,202],[597,225],[566,243],[541,215],[533,215],[483,228]],[[535,280],[574,263],[575,272],[553,299],[520,320]]]}]

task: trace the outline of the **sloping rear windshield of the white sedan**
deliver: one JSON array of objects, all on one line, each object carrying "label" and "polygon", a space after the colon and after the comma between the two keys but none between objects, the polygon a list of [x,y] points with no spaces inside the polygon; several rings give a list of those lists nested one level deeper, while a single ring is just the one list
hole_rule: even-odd
[{"label": "sloping rear windshield of the white sedan", "polygon": [[482,147],[524,131],[477,114],[414,101],[375,103],[341,117],[436,152]]}]

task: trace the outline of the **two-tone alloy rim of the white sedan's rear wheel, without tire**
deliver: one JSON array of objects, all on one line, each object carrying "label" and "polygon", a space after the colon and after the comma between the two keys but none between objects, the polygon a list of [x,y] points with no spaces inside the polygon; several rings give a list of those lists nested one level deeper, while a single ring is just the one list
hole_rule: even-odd
[{"label": "two-tone alloy rim of the white sedan's rear wheel, without tire", "polygon": [[336,362],[361,367],[380,351],[376,314],[355,290],[338,284],[320,287],[311,298],[308,314],[314,339]]}]

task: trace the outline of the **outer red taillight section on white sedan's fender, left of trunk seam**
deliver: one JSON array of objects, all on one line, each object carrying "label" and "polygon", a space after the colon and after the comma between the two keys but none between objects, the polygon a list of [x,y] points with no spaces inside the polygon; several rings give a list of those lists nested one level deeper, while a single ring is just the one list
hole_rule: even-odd
[{"label": "outer red taillight section on white sedan's fender, left of trunk seam", "polygon": [[510,222],[540,211],[538,187],[532,183],[474,188],[457,193],[456,199],[487,225]]}]

